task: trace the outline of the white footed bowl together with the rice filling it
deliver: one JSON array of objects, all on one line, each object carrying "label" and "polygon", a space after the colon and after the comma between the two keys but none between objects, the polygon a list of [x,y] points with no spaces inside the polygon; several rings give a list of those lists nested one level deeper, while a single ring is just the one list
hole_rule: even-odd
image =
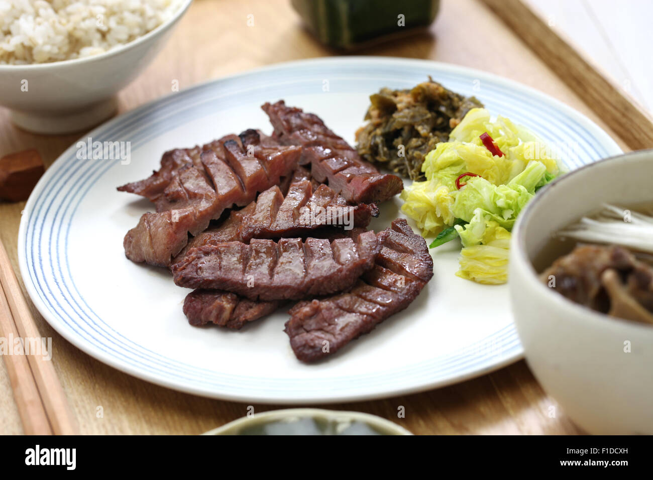
[{"label": "white footed bowl together with the rice filling it", "polygon": [[105,120],[191,1],[0,0],[0,106],[35,133]]}]

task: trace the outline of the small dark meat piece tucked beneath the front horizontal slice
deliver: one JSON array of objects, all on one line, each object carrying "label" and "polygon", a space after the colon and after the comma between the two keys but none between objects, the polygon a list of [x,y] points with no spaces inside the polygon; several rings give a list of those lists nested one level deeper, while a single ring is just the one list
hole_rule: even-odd
[{"label": "small dark meat piece tucked beneath the front horizontal slice", "polygon": [[255,301],[219,290],[194,290],[183,302],[183,313],[191,325],[213,323],[239,330],[247,322],[269,315],[279,308],[278,300]]}]

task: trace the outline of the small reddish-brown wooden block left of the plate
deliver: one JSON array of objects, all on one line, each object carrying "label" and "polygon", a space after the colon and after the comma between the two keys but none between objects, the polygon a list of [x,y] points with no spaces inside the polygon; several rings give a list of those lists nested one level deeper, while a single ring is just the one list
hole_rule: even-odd
[{"label": "small reddish-brown wooden block left of the plate", "polygon": [[27,200],[43,172],[43,160],[33,148],[5,155],[0,159],[0,199]]}]

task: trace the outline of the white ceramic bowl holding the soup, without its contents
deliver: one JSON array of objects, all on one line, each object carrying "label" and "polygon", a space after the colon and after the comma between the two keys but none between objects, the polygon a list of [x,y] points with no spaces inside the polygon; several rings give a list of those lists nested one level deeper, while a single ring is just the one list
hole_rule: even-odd
[{"label": "white ceramic bowl holding the soup, without its contents", "polygon": [[542,189],[513,230],[509,287],[526,361],[593,434],[653,434],[653,327],[567,300],[539,280],[532,260],[554,232],[604,202],[653,202],[652,180],[653,150],[592,163]]}]

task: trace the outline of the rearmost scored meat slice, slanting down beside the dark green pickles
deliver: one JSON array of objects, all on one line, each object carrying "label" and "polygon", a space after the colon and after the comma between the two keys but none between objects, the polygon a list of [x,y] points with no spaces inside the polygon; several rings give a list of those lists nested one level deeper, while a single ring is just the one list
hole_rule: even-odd
[{"label": "rearmost scored meat slice, slanting down beside the dark green pickles", "polygon": [[283,100],[266,103],[263,110],[282,144],[304,147],[301,163],[311,164],[311,176],[328,182],[348,202],[383,202],[404,189],[398,176],[379,173],[317,115],[286,106]]}]

